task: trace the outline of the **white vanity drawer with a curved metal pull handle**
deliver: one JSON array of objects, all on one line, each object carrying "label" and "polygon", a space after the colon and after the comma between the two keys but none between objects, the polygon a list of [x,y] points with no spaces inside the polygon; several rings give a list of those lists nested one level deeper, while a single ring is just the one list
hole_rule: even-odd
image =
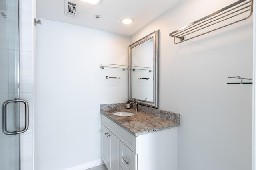
[{"label": "white vanity drawer with a curved metal pull handle", "polygon": [[123,170],[137,170],[137,154],[119,141],[119,165]]}]

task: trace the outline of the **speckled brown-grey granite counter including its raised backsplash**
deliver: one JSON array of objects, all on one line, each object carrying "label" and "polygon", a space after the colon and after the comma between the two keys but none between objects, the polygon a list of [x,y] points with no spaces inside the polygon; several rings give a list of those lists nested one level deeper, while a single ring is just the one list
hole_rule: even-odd
[{"label": "speckled brown-grey granite counter including its raised backsplash", "polygon": [[[142,110],[147,111],[147,113],[143,112]],[[128,111],[135,113],[135,115],[128,117],[113,115],[114,112],[118,111]],[[147,106],[142,105],[138,105],[138,112],[134,112],[133,108],[126,109],[125,103],[101,104],[100,113],[135,136],[180,126],[179,114],[154,109],[151,107],[147,108]]]}]

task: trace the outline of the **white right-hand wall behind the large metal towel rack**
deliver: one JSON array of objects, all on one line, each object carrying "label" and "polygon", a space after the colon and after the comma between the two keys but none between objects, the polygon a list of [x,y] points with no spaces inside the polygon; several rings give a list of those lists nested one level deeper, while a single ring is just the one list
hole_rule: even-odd
[{"label": "white right-hand wall behind the large metal towel rack", "polygon": [[252,78],[252,17],[178,45],[169,37],[233,2],[187,1],[131,37],[160,29],[159,106],[181,115],[178,170],[251,168],[252,85],[226,83]]}]

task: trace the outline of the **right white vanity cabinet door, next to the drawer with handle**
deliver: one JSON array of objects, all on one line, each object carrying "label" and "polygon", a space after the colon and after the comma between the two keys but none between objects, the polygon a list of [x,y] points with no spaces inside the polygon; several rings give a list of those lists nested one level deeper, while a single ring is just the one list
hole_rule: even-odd
[{"label": "right white vanity cabinet door, next to the drawer with handle", "polygon": [[119,170],[119,139],[110,132],[110,170]]}]

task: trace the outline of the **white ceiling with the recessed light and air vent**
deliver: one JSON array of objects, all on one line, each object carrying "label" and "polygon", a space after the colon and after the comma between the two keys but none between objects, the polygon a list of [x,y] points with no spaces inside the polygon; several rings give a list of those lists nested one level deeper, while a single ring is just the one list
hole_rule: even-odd
[{"label": "white ceiling with the recessed light and air vent", "polygon": [[[182,1],[184,0],[100,0],[98,5],[93,5],[72,0],[78,8],[77,18],[74,18],[64,14],[65,0],[36,0],[36,16],[130,36]],[[100,15],[101,18],[96,19],[95,15]],[[119,22],[122,17],[132,17],[134,23],[122,25]]]}]

